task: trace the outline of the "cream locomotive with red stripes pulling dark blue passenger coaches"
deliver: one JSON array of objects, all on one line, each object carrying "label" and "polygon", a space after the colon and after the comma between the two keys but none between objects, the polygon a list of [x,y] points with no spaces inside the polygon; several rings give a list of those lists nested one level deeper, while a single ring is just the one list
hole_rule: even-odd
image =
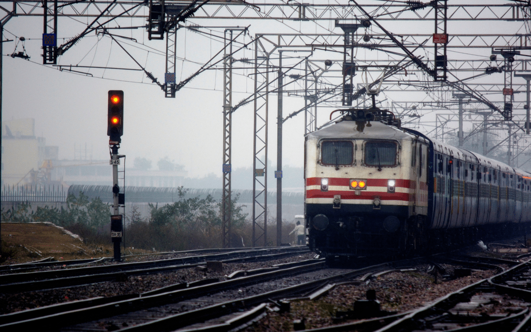
[{"label": "cream locomotive with red stripes pulling dark blue passenger coaches", "polygon": [[529,227],[530,173],[403,128],[387,110],[334,112],[341,120],[305,137],[305,220],[321,257],[410,256]]}]

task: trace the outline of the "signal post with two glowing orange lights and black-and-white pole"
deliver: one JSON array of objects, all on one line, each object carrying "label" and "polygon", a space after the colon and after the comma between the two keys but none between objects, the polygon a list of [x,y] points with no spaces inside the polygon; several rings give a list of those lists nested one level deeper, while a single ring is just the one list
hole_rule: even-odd
[{"label": "signal post with two glowing orange lights and black-and-white pole", "polygon": [[109,164],[113,166],[113,215],[110,216],[110,238],[114,244],[114,260],[121,260],[120,245],[123,234],[123,216],[119,214],[119,205],[125,203],[124,194],[118,186],[118,149],[124,132],[124,91],[109,90],[107,97],[107,135],[109,136]]}]

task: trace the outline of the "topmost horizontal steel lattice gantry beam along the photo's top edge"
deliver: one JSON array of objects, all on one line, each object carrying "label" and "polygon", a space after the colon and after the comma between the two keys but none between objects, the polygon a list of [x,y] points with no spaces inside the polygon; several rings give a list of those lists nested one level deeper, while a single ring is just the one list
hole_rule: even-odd
[{"label": "topmost horizontal steel lattice gantry beam along the photo's top edge", "polygon": [[[161,4],[163,0],[153,0],[154,5]],[[443,1],[443,0],[438,0]],[[373,16],[385,15],[379,20],[383,21],[407,21],[425,20],[432,21],[435,15],[435,7],[431,3],[426,6],[387,4],[370,0],[359,1]],[[448,21],[475,21],[475,20],[528,20],[525,2],[513,2],[502,4],[466,3],[447,5]],[[12,3],[16,15],[41,16],[40,8],[42,0],[5,1]],[[113,17],[118,12],[127,11],[138,5],[149,6],[149,2],[143,0],[120,0],[120,1],[69,1],[58,0],[59,16],[96,17],[109,5],[108,13],[102,17]],[[192,1],[169,1],[164,0],[165,6],[187,6]],[[420,3],[420,2],[419,2]],[[404,8],[409,10],[402,11]],[[142,17],[148,19],[148,15],[140,14],[138,10],[127,12],[124,17]],[[328,21],[344,20],[362,17],[363,13],[352,3],[344,4],[309,4],[309,3],[284,3],[271,1],[269,3],[251,4],[247,2],[210,1],[195,13],[196,19],[261,19],[261,20],[292,20],[292,21]],[[154,20],[155,21],[155,18]]]}]

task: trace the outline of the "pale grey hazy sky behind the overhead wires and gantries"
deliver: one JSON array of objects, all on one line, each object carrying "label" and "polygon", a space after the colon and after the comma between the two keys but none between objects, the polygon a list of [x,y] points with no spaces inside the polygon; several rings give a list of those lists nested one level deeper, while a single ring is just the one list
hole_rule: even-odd
[{"label": "pale grey hazy sky behind the overhead wires and gantries", "polygon": [[[348,3],[347,0],[342,2]],[[328,2],[315,1],[314,3]],[[462,0],[459,3],[470,3],[470,1]],[[504,2],[493,0],[492,3],[502,4]],[[80,33],[86,24],[92,20],[87,18],[59,18],[58,44],[64,42],[63,38],[69,39]],[[250,25],[250,35],[239,39],[243,42],[251,41],[254,34],[260,32],[324,33],[328,31],[330,33],[333,31],[334,33],[342,33],[340,29],[333,28],[333,22],[328,21],[319,21],[319,24],[315,24],[314,22],[300,21],[190,19],[187,24],[190,23],[215,25],[217,27]],[[145,24],[145,21],[142,19],[124,19],[119,21],[119,24],[122,27],[138,26]],[[386,28],[392,32],[428,30],[428,33],[432,33],[433,22],[415,23],[414,27],[411,25],[404,26],[405,24],[407,23],[384,23]],[[480,25],[477,24],[478,29],[482,29]],[[521,22],[511,23],[511,25],[504,23],[499,24],[498,29],[507,30],[507,33],[526,33],[525,29],[522,31],[521,25],[523,25]],[[474,27],[475,25],[470,26]],[[373,28],[371,28],[373,33],[381,32],[377,28]],[[463,30],[463,27],[453,25],[449,27],[450,30],[460,31]],[[202,31],[222,36],[224,28],[202,29]],[[158,78],[159,82],[164,83],[166,40],[148,40],[145,29],[112,30],[112,33],[135,38],[136,42],[125,39],[118,39],[118,41],[135,57],[136,61],[145,66],[147,71]],[[181,91],[178,91],[176,98],[165,98],[164,92],[152,84],[142,71],[75,69],[76,71],[91,73],[93,77],[90,77],[67,71],[61,72],[57,70],[57,67],[42,65],[41,34],[42,17],[18,16],[12,18],[5,25],[4,40],[15,40],[3,43],[2,121],[35,118],[36,134],[45,137],[48,146],[59,146],[60,159],[74,159],[74,147],[78,149],[79,154],[80,147],[84,149],[86,144],[89,153],[92,154],[92,159],[106,160],[109,157],[108,137],[106,135],[107,91],[124,90],[124,135],[119,153],[127,156],[128,165],[132,166],[135,157],[145,157],[152,160],[153,168],[156,168],[157,161],[167,156],[170,160],[185,165],[190,176],[202,177],[208,173],[221,174],[223,143],[221,70],[206,71],[187,84]],[[210,39],[208,36],[190,30],[181,29],[177,32],[177,36],[177,55],[179,57],[176,65],[177,81],[184,80],[198,70],[202,64],[222,48],[222,42],[219,38]],[[20,37],[24,37],[25,42],[19,42],[18,38]],[[430,46],[431,50],[433,44],[429,42],[427,45]],[[31,57],[30,61],[8,56],[14,52],[23,51],[23,48]],[[418,55],[425,54],[429,57],[427,52],[421,52]],[[286,53],[286,56],[304,56],[305,54],[307,53]],[[486,50],[481,50],[479,55],[449,53],[449,57],[463,56],[473,59],[484,59],[488,58],[489,55],[490,52]],[[252,47],[249,47],[249,49],[235,54],[234,57],[236,59],[253,59],[254,51]],[[400,58],[366,49],[359,50],[357,57],[361,59],[365,57],[373,59]],[[313,59],[326,58],[341,60],[342,55],[332,52],[316,52],[313,57]],[[286,60],[286,63],[296,61],[300,61],[300,59]],[[63,56],[60,56],[58,63],[61,65],[139,69],[139,66],[116,42],[108,36],[97,36],[94,32],[84,37]],[[220,65],[221,63],[217,66],[218,69]],[[237,67],[243,65],[243,62],[235,63]],[[251,66],[250,64],[245,65]],[[235,71],[233,105],[249,97],[253,92],[252,72],[250,69]],[[293,73],[300,74],[301,72],[294,71]],[[271,75],[273,79],[276,78],[276,73],[271,73]],[[335,75],[339,74],[336,73]],[[403,76],[400,77],[404,79]],[[356,83],[361,83],[361,80],[361,75],[357,75]],[[498,74],[495,80],[503,82],[502,74]],[[292,84],[290,89],[302,89],[303,87],[302,83]],[[293,96],[297,94],[299,96]],[[290,96],[285,94],[284,117],[304,106],[304,99],[300,96],[301,94],[302,92],[290,93]],[[421,96],[414,97],[415,100],[431,100],[431,97],[425,97],[424,92],[419,92],[419,94]],[[379,96],[381,100],[390,99],[390,97],[392,94],[384,95],[382,93]],[[401,98],[401,100],[408,100],[408,97],[402,96]],[[496,98],[499,99],[499,97]],[[269,159],[273,161],[273,165],[276,165],[276,105],[277,96],[271,94],[268,143]],[[336,105],[339,107],[340,102]],[[318,122],[320,124],[328,120],[331,110],[333,108],[319,109]],[[303,134],[303,113],[284,124],[284,164],[294,167],[303,166]],[[233,115],[232,156],[233,168],[252,165],[252,103],[239,108]],[[272,171],[274,170],[270,169],[270,172]]]}]

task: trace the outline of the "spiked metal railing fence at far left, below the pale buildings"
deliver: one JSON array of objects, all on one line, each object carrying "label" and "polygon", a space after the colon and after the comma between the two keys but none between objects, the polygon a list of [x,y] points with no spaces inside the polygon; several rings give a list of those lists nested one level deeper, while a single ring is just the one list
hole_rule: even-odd
[{"label": "spiked metal railing fence at far left, below the pale buildings", "polygon": [[4,186],[2,202],[66,202],[68,187],[63,185]]}]

